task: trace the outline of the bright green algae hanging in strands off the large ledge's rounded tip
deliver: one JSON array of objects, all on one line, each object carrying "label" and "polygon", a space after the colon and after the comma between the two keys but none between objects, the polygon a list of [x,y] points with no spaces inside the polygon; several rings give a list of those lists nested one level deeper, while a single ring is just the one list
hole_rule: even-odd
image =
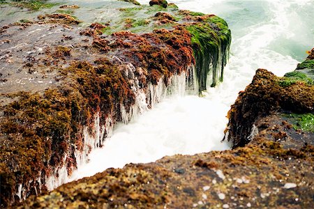
[{"label": "bright green algae hanging in strands off the large ledge's rounded tip", "polygon": [[[215,29],[215,26],[218,29]],[[209,17],[207,22],[190,24],[186,26],[186,29],[192,35],[191,42],[196,59],[200,91],[207,88],[207,75],[211,64],[213,82],[210,85],[212,87],[216,86],[218,82],[223,81],[223,72],[218,72],[218,69],[222,70],[227,62],[231,42],[231,33],[227,29],[227,23],[215,16]],[[220,57],[221,55],[222,57]]]}]

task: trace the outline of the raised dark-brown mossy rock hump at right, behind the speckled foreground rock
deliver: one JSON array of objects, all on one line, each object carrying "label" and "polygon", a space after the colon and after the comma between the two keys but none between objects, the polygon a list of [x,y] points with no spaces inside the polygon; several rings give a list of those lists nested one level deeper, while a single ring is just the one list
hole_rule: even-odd
[{"label": "raised dark-brown mossy rock hump at right, behind the speckled foreground rock", "polygon": [[[312,61],[313,54],[312,49],[304,62]],[[285,77],[276,77],[267,70],[257,70],[253,82],[239,93],[239,98],[228,113],[230,121],[226,137],[234,147],[247,144],[252,139],[255,121],[274,112],[299,114],[297,118],[308,114],[310,120],[313,119],[314,81],[311,77],[314,70],[299,70],[300,65],[302,63],[298,65],[298,70],[288,72]],[[314,127],[308,130],[314,132]]]}]

